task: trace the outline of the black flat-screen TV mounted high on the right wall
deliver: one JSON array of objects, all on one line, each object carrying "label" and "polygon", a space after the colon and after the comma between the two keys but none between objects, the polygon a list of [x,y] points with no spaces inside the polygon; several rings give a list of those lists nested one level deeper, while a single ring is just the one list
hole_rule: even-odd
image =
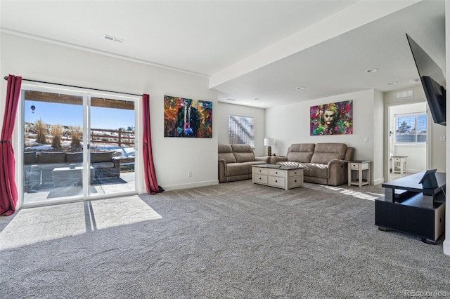
[{"label": "black flat-screen TV mounted high on the right wall", "polygon": [[442,69],[420,48],[416,41],[411,39],[411,36],[406,34],[406,38],[408,39],[411,53],[413,53],[414,62],[416,62],[433,121],[435,124],[446,126],[446,91]]}]

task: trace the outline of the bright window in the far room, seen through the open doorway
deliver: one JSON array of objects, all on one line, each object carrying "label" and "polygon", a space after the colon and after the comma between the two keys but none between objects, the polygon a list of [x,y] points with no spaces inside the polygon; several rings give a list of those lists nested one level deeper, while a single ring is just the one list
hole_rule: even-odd
[{"label": "bright window in the far room, seen through the open doorway", "polygon": [[427,114],[400,114],[395,116],[395,142],[418,143],[427,141]]}]

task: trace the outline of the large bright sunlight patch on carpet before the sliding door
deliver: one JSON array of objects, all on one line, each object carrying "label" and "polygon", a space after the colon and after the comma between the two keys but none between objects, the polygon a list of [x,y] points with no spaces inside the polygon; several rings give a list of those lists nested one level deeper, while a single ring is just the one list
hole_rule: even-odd
[{"label": "large bright sunlight patch on carpet before the sliding door", "polygon": [[137,196],[24,208],[0,232],[0,251],[160,218]]}]

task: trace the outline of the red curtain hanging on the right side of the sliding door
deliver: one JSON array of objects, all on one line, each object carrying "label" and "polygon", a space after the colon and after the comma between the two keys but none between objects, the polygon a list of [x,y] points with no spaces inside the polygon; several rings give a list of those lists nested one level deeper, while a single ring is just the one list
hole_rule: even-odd
[{"label": "red curtain hanging on the right side of the sliding door", "polygon": [[152,195],[163,192],[156,180],[155,165],[153,164],[152,138],[150,133],[150,95],[142,95],[142,154],[143,154],[143,176],[146,181],[147,193]]}]

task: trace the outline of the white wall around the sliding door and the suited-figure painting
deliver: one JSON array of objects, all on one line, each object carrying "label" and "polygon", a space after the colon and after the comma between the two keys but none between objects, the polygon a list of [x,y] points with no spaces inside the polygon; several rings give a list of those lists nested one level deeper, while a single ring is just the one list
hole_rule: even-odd
[{"label": "white wall around the sliding door and the suited-figure painting", "polygon": [[[153,161],[158,184],[166,190],[214,185],[217,180],[217,93],[208,79],[0,33],[0,74],[124,93],[150,94]],[[4,114],[6,81],[1,80]],[[212,138],[165,138],[164,95],[212,101]],[[17,142],[17,140],[15,140]],[[139,154],[140,149],[136,154]],[[188,171],[192,177],[188,178]]]}]

